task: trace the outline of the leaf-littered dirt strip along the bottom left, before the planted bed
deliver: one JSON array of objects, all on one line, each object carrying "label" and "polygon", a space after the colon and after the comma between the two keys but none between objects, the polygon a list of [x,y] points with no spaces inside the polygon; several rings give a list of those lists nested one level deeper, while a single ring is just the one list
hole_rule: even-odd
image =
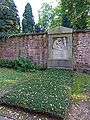
[{"label": "leaf-littered dirt strip along the bottom left, before the planted bed", "polygon": [[[24,112],[20,109],[0,106],[0,120],[60,120],[48,115]],[[5,117],[2,117],[5,116]]]}]

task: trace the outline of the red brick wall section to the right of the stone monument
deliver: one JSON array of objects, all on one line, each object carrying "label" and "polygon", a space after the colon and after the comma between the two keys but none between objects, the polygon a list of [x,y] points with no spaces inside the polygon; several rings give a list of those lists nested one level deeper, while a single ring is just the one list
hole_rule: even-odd
[{"label": "red brick wall section to the right of the stone monument", "polygon": [[73,32],[73,67],[90,67],[90,31]]}]

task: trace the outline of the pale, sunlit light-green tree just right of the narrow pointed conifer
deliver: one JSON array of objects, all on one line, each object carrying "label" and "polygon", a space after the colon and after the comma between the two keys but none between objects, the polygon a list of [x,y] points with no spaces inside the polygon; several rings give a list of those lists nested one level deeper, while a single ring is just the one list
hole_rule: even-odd
[{"label": "pale, sunlit light-green tree just right of the narrow pointed conifer", "polygon": [[60,7],[52,7],[51,3],[43,3],[38,11],[39,20],[38,24],[42,31],[46,32],[48,29],[60,25]]}]

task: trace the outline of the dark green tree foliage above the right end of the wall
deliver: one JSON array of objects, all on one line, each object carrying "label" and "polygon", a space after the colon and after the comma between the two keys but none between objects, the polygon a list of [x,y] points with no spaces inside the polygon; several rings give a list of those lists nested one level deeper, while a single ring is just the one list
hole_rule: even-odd
[{"label": "dark green tree foliage above the right end of the wall", "polygon": [[[62,24],[68,27],[86,29],[89,5],[86,0],[61,0]],[[63,20],[65,19],[65,20]]]}]

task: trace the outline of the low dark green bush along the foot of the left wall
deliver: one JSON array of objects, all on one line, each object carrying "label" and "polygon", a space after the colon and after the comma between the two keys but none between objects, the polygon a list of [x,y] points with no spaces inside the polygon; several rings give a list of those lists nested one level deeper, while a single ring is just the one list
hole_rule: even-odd
[{"label": "low dark green bush along the foot of the left wall", "polygon": [[0,67],[14,68],[18,71],[32,71],[39,69],[30,59],[17,57],[15,60],[0,60]]}]

